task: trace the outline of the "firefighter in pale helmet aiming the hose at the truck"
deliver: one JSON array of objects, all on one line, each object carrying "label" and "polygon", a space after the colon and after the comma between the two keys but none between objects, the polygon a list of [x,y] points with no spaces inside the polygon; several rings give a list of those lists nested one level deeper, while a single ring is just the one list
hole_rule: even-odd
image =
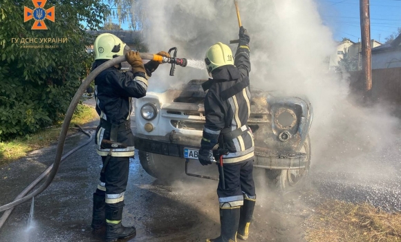
[{"label": "firefighter in pale helmet aiming the hose at the truck", "polygon": [[[102,156],[100,182],[93,194],[93,230],[106,225],[106,241],[134,236],[135,227],[121,224],[124,192],[129,175],[129,157],[133,156],[131,132],[131,99],[144,97],[148,79],[158,68],[158,62],[142,63],[138,52],[129,50],[118,37],[109,33],[99,35],[93,46],[95,62],[92,71],[109,59],[125,55],[131,71],[120,72],[121,64],[102,71],[95,78],[96,111],[100,125],[96,130],[97,153]],[[168,53],[158,55],[169,57]]]}]

